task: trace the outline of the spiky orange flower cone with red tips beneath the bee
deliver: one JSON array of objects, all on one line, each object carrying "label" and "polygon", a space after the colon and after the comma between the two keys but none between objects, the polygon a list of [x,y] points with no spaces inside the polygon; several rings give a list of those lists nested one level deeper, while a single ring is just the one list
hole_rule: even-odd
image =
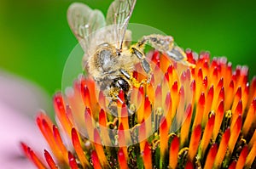
[{"label": "spiky orange flower cone with red tips beneath the bee", "polygon": [[25,155],[38,168],[255,167],[256,78],[248,82],[248,68],[232,70],[226,58],[186,54],[195,68],[149,52],[151,82],[132,88],[129,105],[121,91],[115,109],[79,76],[54,96],[57,125],[37,117],[50,149],[36,154],[22,142]]}]

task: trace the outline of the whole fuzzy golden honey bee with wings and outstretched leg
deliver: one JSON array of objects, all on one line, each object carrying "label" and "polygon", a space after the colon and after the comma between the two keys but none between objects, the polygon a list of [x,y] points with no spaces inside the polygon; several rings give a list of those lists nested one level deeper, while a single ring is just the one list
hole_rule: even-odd
[{"label": "whole fuzzy golden honey bee with wings and outstretched leg", "polygon": [[[120,100],[120,90],[127,98],[132,86],[139,87],[150,81],[152,70],[144,54],[146,43],[183,65],[193,66],[170,36],[148,35],[130,45],[131,31],[127,25],[135,4],[136,0],[114,0],[106,20],[100,10],[84,3],[73,3],[67,11],[68,24],[84,50],[84,69],[113,101]],[[132,76],[137,63],[148,75],[142,82]]]}]

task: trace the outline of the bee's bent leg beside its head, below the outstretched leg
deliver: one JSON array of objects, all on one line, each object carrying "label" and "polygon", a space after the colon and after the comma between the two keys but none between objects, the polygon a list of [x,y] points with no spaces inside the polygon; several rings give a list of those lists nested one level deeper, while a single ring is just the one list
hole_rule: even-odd
[{"label": "bee's bent leg beside its head, below the outstretched leg", "polygon": [[[141,60],[141,65],[143,67],[143,70],[147,73],[148,78],[147,78],[147,83],[150,82],[151,80],[151,67],[148,63],[148,60],[145,57],[145,54],[143,54],[143,50],[140,50],[139,48],[137,48],[136,46],[132,46],[131,47],[131,54],[135,54],[137,56],[138,59]],[[136,79],[135,79],[136,80]],[[144,83],[144,81],[143,81]]]}]

